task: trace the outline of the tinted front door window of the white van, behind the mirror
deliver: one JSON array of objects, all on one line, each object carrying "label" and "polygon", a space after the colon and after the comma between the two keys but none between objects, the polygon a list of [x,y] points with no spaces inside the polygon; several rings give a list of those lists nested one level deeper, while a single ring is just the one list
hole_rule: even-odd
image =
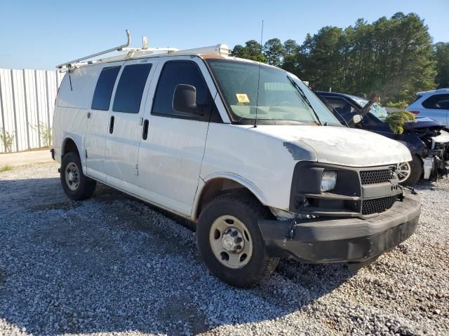
[{"label": "tinted front door window of the white van, behind the mirror", "polygon": [[178,84],[189,84],[196,88],[196,104],[207,106],[206,110],[208,110],[207,116],[203,116],[201,120],[208,121],[213,99],[198,66],[190,61],[169,61],[164,64],[154,94],[152,114],[192,118],[189,113],[177,112],[172,108],[173,93]]}]

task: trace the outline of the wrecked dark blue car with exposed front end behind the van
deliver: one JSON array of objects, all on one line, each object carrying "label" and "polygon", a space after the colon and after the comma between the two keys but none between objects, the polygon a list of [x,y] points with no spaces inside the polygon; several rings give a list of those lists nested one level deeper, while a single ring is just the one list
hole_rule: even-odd
[{"label": "wrecked dark blue car with exposed front end behind the van", "polygon": [[[360,123],[354,116],[369,103],[367,99],[337,92],[315,92],[328,104],[343,124],[361,128],[401,141],[410,149],[413,160],[397,167],[399,182],[403,186],[414,186],[420,178],[435,181],[449,172],[449,130],[435,120],[416,118],[416,123],[404,124],[403,134],[394,134],[384,122],[388,112],[379,104],[370,106]],[[356,118],[357,119],[357,118]]]}]

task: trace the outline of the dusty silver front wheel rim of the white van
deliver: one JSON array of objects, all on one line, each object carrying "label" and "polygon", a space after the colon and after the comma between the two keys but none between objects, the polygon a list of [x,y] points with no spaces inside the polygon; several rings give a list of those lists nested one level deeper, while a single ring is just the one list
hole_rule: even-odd
[{"label": "dusty silver front wheel rim of the white van", "polygon": [[244,267],[253,255],[253,239],[246,225],[234,216],[220,216],[212,223],[209,243],[215,258],[226,267]]}]

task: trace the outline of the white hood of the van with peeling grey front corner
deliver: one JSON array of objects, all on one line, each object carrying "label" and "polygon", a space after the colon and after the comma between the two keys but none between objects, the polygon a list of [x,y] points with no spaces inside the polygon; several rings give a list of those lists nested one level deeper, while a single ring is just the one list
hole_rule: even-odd
[{"label": "white hood of the van with peeling grey front corner", "polygon": [[298,161],[373,167],[412,160],[403,144],[365,130],[314,125],[258,125],[252,130],[281,139]]}]

